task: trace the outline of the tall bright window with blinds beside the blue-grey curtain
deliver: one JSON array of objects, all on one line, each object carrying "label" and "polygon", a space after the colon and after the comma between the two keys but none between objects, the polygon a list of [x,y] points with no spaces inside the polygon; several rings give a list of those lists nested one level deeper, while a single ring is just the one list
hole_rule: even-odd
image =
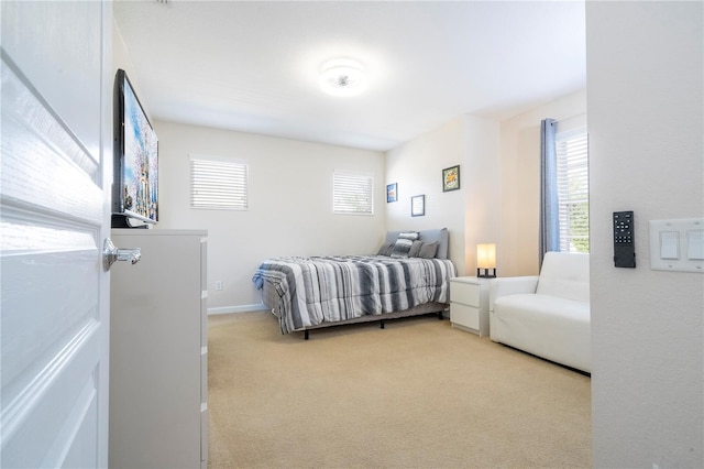
[{"label": "tall bright window with blinds beside the blue-grey curtain", "polygon": [[586,131],[556,135],[560,251],[590,252],[590,182]]}]

